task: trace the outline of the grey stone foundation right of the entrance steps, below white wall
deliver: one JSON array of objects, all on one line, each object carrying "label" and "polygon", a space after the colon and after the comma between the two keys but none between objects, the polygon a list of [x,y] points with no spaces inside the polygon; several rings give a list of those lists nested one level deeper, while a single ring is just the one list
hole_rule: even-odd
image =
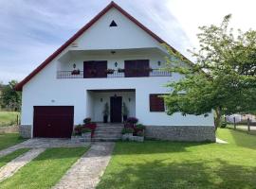
[{"label": "grey stone foundation right of the entrance steps, below white wall", "polygon": [[146,126],[145,137],[168,141],[215,142],[212,126]]}]

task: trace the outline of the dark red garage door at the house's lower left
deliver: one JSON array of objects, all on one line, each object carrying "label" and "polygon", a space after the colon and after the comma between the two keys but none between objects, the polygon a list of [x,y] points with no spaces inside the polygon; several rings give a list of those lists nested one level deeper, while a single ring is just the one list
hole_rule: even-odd
[{"label": "dark red garage door at the house's lower left", "polygon": [[34,137],[70,138],[73,123],[73,106],[34,107]]}]

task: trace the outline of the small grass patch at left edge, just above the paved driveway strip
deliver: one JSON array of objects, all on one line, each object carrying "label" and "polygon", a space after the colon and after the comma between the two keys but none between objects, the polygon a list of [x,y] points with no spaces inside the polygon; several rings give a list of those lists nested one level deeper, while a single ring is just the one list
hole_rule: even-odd
[{"label": "small grass patch at left edge, just above the paved driveway strip", "polygon": [[25,141],[18,133],[0,133],[0,150]]}]

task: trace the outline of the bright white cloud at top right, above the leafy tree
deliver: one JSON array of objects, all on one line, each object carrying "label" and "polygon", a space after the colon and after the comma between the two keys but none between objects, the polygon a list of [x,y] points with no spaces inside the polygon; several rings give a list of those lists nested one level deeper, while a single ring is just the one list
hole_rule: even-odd
[{"label": "bright white cloud at top right, above the leafy tree", "polygon": [[170,0],[167,7],[194,46],[198,45],[198,26],[220,25],[229,13],[232,14],[230,26],[243,30],[256,29],[255,0]]}]

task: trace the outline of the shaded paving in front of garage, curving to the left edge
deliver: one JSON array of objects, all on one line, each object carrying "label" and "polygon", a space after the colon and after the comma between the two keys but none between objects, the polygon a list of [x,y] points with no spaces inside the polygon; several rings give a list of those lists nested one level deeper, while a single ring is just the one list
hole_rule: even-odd
[{"label": "shaded paving in front of garage, curving to the left edge", "polygon": [[47,147],[76,147],[76,146],[88,146],[89,143],[74,143],[70,139],[46,139],[36,138],[28,139],[27,141],[15,146],[10,146],[0,151],[0,158],[8,155],[9,153],[20,148],[47,148]]}]

